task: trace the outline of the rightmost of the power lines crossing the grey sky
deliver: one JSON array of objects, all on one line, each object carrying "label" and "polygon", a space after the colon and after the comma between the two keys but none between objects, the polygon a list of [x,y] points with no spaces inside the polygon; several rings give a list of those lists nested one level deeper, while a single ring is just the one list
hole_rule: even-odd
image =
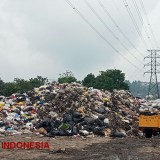
[{"label": "rightmost of the power lines crossing the grey sky", "polygon": [[151,24],[150,24],[150,22],[149,22],[149,18],[148,18],[148,16],[147,16],[147,12],[146,12],[146,9],[145,9],[145,7],[144,7],[144,3],[143,3],[142,0],[140,0],[140,4],[141,4],[142,10],[143,10],[143,13],[144,13],[144,15],[145,15],[145,17],[146,17],[146,21],[147,21],[147,24],[148,24],[149,29],[150,29],[150,31],[151,31],[151,34],[152,34],[152,36],[153,36],[153,39],[154,39],[154,42],[155,42],[155,46],[156,46],[157,48],[159,48],[158,43],[157,43],[157,40],[156,40],[156,37],[155,37],[154,32],[153,32],[153,29],[152,29],[152,26],[151,26]]}]

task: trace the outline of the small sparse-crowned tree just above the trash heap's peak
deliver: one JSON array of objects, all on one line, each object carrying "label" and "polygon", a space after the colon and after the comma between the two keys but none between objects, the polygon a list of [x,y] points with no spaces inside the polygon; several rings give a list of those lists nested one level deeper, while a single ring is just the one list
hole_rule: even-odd
[{"label": "small sparse-crowned tree just above the trash heap's peak", "polygon": [[72,83],[72,82],[77,82],[77,79],[74,77],[71,71],[66,71],[63,74],[60,74],[60,77],[58,78],[58,82],[59,83]]}]

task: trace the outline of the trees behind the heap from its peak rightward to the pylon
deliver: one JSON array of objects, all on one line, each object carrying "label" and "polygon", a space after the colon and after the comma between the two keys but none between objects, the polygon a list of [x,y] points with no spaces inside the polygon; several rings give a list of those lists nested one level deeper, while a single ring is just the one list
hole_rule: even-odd
[{"label": "trees behind the heap from its peak rightward to the pylon", "polygon": [[[66,71],[60,74],[59,83],[80,82],[74,77],[72,72]],[[88,74],[81,83],[86,87],[93,87],[97,89],[104,89],[113,91],[114,89],[129,90],[135,97],[146,98],[148,94],[148,83],[141,81],[125,80],[125,74],[121,70],[109,69],[100,71],[98,76],[93,73]],[[153,95],[155,96],[155,95]]]}]

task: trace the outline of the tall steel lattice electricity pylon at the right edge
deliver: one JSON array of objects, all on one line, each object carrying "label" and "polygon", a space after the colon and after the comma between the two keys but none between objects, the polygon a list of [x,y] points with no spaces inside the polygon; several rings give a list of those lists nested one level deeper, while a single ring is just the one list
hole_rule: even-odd
[{"label": "tall steel lattice electricity pylon at the right edge", "polygon": [[151,62],[144,65],[144,66],[151,66],[151,69],[145,72],[151,74],[149,88],[148,88],[148,96],[156,95],[157,96],[156,98],[160,98],[158,81],[157,81],[157,74],[160,73],[160,71],[157,70],[157,66],[160,66],[160,63],[157,62],[157,59],[160,58],[160,55],[157,54],[157,52],[159,51],[160,50],[148,50],[148,52],[150,52],[150,55],[148,55],[145,58],[150,58]]}]

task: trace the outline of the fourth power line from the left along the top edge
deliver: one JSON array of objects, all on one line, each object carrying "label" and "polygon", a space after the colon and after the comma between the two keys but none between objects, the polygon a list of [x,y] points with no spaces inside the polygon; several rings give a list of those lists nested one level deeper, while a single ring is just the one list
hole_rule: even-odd
[{"label": "fourth power line from the left along the top edge", "polygon": [[134,27],[135,27],[138,35],[140,36],[140,38],[141,38],[141,40],[142,40],[145,48],[147,49],[147,48],[148,48],[148,45],[147,45],[147,43],[145,42],[144,38],[142,37],[142,34],[141,34],[140,30],[139,30],[139,27],[138,27],[138,25],[137,25],[137,23],[136,23],[136,20],[134,19],[134,16],[133,16],[133,14],[132,14],[132,12],[131,12],[131,9],[130,9],[127,1],[126,1],[126,0],[123,0],[123,3],[124,3],[124,6],[125,6],[126,9],[127,9],[127,12],[128,12],[128,14],[129,14],[129,16],[130,16],[130,18],[131,18],[131,20],[132,20],[132,23],[133,23],[133,25],[134,25]]}]

